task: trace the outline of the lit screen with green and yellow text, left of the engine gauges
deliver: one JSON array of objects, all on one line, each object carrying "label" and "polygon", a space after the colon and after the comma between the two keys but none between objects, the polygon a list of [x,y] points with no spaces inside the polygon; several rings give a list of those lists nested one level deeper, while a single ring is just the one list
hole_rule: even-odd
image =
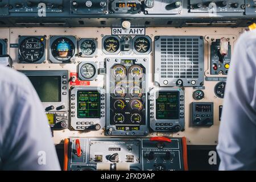
[{"label": "lit screen with green and yellow text, left of the engine gauges", "polygon": [[77,118],[100,118],[100,104],[98,91],[77,91]]}]

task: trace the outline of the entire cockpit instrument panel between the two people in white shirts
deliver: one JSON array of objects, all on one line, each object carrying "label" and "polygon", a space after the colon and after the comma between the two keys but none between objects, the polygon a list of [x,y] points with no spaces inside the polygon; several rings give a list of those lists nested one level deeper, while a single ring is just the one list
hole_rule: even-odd
[{"label": "entire cockpit instrument panel between the two people in white shirts", "polygon": [[184,170],[187,146],[218,143],[234,44],[255,5],[4,0],[0,64],[31,81],[54,143],[68,139],[67,169]]}]

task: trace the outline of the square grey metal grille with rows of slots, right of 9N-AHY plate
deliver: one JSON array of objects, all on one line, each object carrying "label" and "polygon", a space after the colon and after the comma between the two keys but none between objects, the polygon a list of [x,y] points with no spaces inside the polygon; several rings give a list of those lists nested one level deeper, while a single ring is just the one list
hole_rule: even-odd
[{"label": "square grey metal grille with rows of slots, right of 9N-AHY plate", "polygon": [[201,78],[204,47],[199,36],[160,36],[155,48],[156,73],[160,80],[168,81],[164,85],[175,86],[176,80],[181,79],[184,86],[190,86],[193,84],[188,80],[197,82]]}]

